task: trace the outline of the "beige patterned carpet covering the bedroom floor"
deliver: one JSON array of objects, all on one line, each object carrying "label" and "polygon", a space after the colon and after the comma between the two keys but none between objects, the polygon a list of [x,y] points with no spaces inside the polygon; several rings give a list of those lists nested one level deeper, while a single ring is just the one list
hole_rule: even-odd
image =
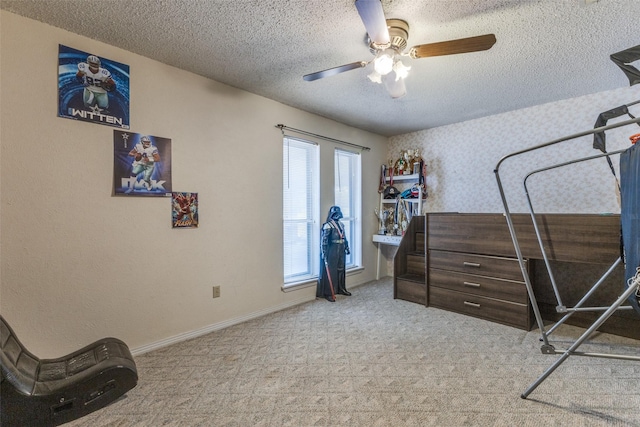
[{"label": "beige patterned carpet covering the bedroom floor", "polygon": [[[139,384],[70,426],[640,426],[640,362],[393,299],[389,278],[136,357]],[[565,326],[557,348],[581,329]],[[599,335],[580,350],[640,354]]]}]

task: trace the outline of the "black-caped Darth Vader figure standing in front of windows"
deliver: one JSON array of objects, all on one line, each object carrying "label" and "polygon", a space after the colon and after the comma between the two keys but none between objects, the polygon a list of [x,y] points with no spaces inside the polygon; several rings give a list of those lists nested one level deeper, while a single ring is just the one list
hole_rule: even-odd
[{"label": "black-caped Darth Vader figure standing in front of windows", "polygon": [[349,242],[344,226],[340,222],[342,211],[339,206],[329,209],[327,222],[322,225],[320,277],[316,297],[335,302],[336,294],[351,295],[345,285],[345,256],[349,253]]}]

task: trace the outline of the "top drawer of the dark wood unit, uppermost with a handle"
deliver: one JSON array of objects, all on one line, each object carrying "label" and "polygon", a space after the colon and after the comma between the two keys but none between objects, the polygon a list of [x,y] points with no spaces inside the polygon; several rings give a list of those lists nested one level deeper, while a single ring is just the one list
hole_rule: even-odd
[{"label": "top drawer of the dark wood unit, uppermost with a handle", "polygon": [[507,280],[523,280],[520,264],[516,258],[432,250],[429,251],[429,268],[498,277]]}]

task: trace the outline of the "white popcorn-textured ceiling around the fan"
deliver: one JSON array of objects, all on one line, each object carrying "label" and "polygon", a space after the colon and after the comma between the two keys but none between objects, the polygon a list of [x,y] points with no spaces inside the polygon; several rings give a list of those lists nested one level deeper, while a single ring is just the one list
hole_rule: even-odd
[{"label": "white popcorn-textured ceiling around the fan", "polygon": [[640,0],[382,3],[387,18],[408,21],[409,47],[487,33],[497,42],[484,52],[407,58],[408,93],[391,99],[367,79],[370,66],[302,80],[372,59],[353,0],[0,0],[0,7],[387,136],[628,86],[609,55],[640,38]]}]

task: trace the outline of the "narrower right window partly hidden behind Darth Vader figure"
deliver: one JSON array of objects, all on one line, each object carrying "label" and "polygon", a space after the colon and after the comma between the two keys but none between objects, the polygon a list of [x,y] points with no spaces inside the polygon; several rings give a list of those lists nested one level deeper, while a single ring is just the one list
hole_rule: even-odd
[{"label": "narrower right window partly hidden behind Darth Vader figure", "polygon": [[361,265],[362,261],[362,222],[361,222],[361,179],[360,154],[350,151],[335,150],[335,190],[334,201],[342,211],[346,238],[349,241],[351,254],[347,255],[345,267]]}]

